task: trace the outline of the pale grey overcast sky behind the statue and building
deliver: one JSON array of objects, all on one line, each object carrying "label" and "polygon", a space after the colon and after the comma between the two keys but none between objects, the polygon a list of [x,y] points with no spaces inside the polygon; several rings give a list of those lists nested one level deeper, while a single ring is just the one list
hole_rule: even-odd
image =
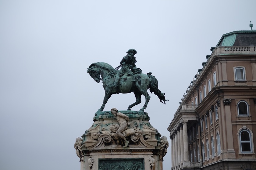
[{"label": "pale grey overcast sky behind the statue and building", "polygon": [[[104,89],[86,67],[114,68],[130,48],[152,72],[155,94],[145,110],[166,130],[181,97],[221,36],[256,28],[256,1],[0,0],[0,169],[80,169],[73,148],[93,123]],[[126,110],[133,94],[113,95],[105,110]],[[133,108],[139,110],[144,103]],[[171,150],[163,168],[170,169]]]}]

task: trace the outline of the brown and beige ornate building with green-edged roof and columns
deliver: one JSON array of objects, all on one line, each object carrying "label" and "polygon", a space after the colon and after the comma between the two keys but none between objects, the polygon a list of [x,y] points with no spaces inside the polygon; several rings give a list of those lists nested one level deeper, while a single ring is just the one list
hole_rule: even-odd
[{"label": "brown and beige ornate building with green-edged roof and columns", "polygon": [[256,169],[256,30],[211,51],[167,129],[171,170]]}]

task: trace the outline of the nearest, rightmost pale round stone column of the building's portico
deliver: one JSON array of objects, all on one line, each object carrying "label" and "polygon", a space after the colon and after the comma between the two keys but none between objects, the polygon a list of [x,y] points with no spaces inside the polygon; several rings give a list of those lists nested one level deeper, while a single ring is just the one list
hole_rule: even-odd
[{"label": "nearest, rightmost pale round stone column of the building's portico", "polygon": [[183,144],[184,144],[184,162],[183,167],[190,167],[190,161],[188,158],[188,137],[187,137],[187,120],[183,120]]}]

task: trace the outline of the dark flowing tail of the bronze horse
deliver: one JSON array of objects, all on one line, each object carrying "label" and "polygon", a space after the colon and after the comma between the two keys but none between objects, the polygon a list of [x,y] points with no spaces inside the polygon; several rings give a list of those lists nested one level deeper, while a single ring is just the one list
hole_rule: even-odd
[{"label": "dark flowing tail of the bronze horse", "polygon": [[155,76],[152,76],[151,74],[152,74],[151,72],[147,73],[148,77],[150,78],[149,91],[151,93],[153,92],[155,95],[157,95],[157,97],[160,99],[160,102],[165,104],[165,101],[169,101],[169,100],[165,100],[165,94],[162,93],[158,89],[158,81],[157,81],[157,79],[155,78]]}]

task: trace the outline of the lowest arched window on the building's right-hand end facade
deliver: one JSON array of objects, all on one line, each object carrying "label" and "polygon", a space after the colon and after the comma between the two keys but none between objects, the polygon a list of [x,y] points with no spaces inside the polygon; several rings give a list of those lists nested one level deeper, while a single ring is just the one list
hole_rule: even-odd
[{"label": "lowest arched window on the building's right-hand end facade", "polygon": [[241,152],[252,152],[251,149],[251,133],[244,129],[240,131],[240,148]]}]

